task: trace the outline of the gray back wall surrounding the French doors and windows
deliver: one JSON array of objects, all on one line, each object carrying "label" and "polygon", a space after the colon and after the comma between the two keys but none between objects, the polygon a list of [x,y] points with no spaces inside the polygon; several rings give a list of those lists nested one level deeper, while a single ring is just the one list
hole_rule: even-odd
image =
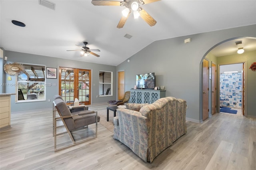
[{"label": "gray back wall surrounding the French doors and windows", "polygon": [[[99,71],[112,71],[113,72],[113,89],[116,89],[116,66],[112,65],[103,65],[96,63],[87,63],[75,60],[60,59],[55,57],[47,57],[42,55],[34,55],[28,53],[19,53],[14,51],[5,51],[5,56],[8,56],[8,62],[19,62],[19,63],[30,63],[30,64],[41,64],[46,65],[46,67],[70,67],[70,68],[79,68],[79,69],[90,69],[92,70],[92,103],[102,103],[109,100],[116,99],[116,91],[113,90],[112,97],[98,97],[99,95]],[[5,77],[9,76],[5,74]],[[16,76],[11,76],[12,80],[7,81],[6,83],[16,83]],[[46,79],[46,83],[56,84],[56,86],[49,86],[46,88],[46,101],[38,102],[26,102],[26,103],[15,103],[15,96],[11,96],[11,112],[17,111],[29,111],[29,110],[38,110],[38,109],[48,109],[52,108],[52,99],[53,96],[58,94],[58,80],[57,79]],[[7,86],[2,87],[2,91],[6,93],[16,93],[15,87]],[[51,102],[48,102],[48,99],[51,99]]]}]

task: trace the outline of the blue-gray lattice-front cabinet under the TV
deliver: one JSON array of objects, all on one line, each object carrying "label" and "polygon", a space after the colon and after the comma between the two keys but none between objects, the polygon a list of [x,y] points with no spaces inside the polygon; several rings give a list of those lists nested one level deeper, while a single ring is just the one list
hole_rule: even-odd
[{"label": "blue-gray lattice-front cabinet under the TV", "polygon": [[166,90],[131,89],[131,103],[154,103],[165,97]]}]

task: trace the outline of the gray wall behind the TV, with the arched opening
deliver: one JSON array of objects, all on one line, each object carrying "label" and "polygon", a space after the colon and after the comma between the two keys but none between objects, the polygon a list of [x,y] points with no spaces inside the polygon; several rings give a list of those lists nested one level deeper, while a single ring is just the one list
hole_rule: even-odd
[{"label": "gray wall behind the TV, with the arched opening", "polygon": [[[155,72],[156,86],[165,86],[166,96],[187,101],[186,118],[202,122],[202,59],[215,45],[239,37],[256,37],[256,25],[170,38],[151,43],[117,66],[125,70],[125,90],[134,87],[136,74]],[[184,40],[191,38],[190,43]],[[249,83],[253,83],[250,84]],[[248,86],[255,86],[255,76],[248,76]],[[248,98],[255,99],[250,88]],[[255,101],[255,100],[254,100]],[[248,102],[248,116],[256,117],[255,102]]]}]

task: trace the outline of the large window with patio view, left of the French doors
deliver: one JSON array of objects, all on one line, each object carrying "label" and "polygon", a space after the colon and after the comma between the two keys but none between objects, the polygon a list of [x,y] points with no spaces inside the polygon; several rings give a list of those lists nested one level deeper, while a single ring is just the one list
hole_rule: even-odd
[{"label": "large window with patio view, left of the French doors", "polygon": [[23,74],[17,76],[16,102],[44,101],[46,87],[51,86],[45,83],[45,65],[23,66]]}]

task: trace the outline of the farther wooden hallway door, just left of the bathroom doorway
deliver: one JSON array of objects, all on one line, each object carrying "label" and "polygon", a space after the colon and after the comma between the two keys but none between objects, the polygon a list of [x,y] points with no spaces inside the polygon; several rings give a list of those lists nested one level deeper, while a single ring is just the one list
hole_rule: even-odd
[{"label": "farther wooden hallway door, just left of the bathroom doorway", "polygon": [[212,115],[216,113],[217,108],[217,69],[216,64],[212,63]]}]

